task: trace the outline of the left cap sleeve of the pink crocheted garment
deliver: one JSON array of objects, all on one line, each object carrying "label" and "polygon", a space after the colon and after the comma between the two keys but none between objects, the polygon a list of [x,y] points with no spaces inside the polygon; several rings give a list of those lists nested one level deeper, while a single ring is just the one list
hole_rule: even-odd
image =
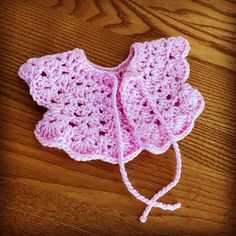
[{"label": "left cap sleeve of the pink crocheted garment", "polygon": [[59,103],[71,78],[79,68],[79,49],[60,54],[31,58],[19,69],[19,76],[29,85],[30,94],[41,106]]}]

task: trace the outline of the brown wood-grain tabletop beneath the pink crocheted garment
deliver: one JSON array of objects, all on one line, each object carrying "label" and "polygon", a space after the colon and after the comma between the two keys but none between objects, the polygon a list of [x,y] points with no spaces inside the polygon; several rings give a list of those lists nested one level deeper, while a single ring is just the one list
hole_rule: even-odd
[{"label": "brown wood-grain tabletop beneath the pink crocheted garment", "polygon": [[[233,0],[27,0],[0,2],[0,235],[230,235],[236,229],[236,82]],[[126,190],[117,165],[76,162],[43,147],[33,130],[45,109],[17,73],[30,57],[83,48],[99,65],[123,61],[133,42],[182,35],[189,82],[206,107],[182,141],[180,183],[152,209]],[[174,177],[170,148],[127,164],[151,197]]]}]

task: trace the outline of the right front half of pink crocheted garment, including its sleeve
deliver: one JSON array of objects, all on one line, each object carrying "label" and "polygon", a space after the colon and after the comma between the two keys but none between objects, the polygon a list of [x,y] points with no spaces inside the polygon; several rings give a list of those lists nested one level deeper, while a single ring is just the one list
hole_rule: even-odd
[{"label": "right front half of pink crocheted garment, including its sleeve", "polygon": [[189,48],[183,37],[135,44],[136,71],[123,82],[123,104],[140,145],[151,145],[154,152],[170,144],[166,127],[179,140],[191,131],[204,108],[200,92],[186,83]]}]

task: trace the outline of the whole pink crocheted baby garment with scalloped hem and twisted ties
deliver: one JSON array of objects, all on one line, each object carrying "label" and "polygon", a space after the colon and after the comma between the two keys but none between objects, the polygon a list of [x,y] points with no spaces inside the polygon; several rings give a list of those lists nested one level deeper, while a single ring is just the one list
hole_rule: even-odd
[{"label": "whole pink crocheted baby garment with scalloped hem and twisted ties", "polygon": [[[189,49],[182,37],[162,38],[132,44],[128,58],[114,68],[95,65],[82,49],[74,49],[29,59],[19,70],[33,99],[48,109],[36,125],[37,139],[78,161],[118,163],[130,193],[147,204],[142,222],[152,207],[180,207],[180,203],[157,200],[178,183],[181,158],[177,141],[192,130],[204,108],[200,92],[186,83]],[[147,199],[130,183],[125,163],[143,149],[158,154],[171,144],[177,159],[176,176]]]}]

